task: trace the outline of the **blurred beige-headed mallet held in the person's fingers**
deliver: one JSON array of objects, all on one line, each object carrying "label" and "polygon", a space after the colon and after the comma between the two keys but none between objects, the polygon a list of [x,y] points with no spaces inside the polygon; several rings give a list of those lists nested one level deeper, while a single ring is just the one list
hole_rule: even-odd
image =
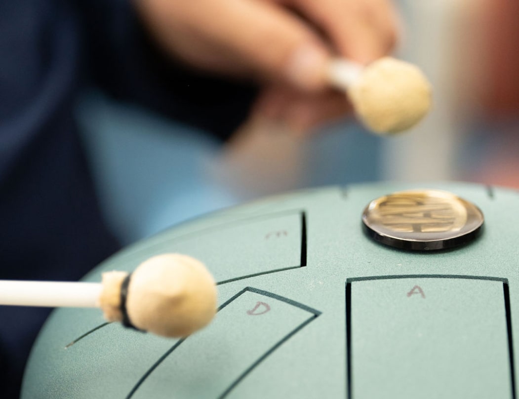
[{"label": "blurred beige-headed mallet held in the person's fingers", "polygon": [[356,114],[376,133],[398,133],[415,126],[431,107],[431,86],[416,65],[390,57],[367,66],[337,59],[330,84],[347,92]]}]

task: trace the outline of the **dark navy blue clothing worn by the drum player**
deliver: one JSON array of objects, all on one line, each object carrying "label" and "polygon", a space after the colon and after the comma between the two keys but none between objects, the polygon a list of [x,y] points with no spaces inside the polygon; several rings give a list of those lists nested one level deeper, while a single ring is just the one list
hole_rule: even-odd
[{"label": "dark navy blue clothing worn by the drum player", "polygon": [[[189,72],[130,0],[0,0],[0,279],[77,280],[119,244],[100,216],[73,119],[87,86],[226,139],[252,88]],[[0,397],[48,310],[0,306]]]}]

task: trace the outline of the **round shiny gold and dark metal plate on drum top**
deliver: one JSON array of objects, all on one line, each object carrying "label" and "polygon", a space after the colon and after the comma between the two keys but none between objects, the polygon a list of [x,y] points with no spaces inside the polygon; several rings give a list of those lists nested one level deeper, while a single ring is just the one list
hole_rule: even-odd
[{"label": "round shiny gold and dark metal plate on drum top", "polygon": [[442,190],[400,191],[371,201],[362,214],[368,236],[406,250],[441,250],[466,244],[482,231],[483,213]]}]

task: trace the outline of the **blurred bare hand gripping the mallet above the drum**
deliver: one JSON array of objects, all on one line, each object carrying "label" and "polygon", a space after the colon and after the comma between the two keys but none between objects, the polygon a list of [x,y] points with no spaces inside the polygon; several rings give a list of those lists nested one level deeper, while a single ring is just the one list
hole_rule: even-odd
[{"label": "blurred bare hand gripping the mallet above the drum", "polygon": [[368,63],[397,37],[390,0],[138,0],[157,40],[203,70],[253,77],[263,90],[253,114],[305,131],[344,115],[348,102],[326,81],[333,56]]}]

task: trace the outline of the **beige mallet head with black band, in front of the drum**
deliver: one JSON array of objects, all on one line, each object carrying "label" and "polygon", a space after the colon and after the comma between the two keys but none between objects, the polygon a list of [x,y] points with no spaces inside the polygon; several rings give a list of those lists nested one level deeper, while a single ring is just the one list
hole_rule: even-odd
[{"label": "beige mallet head with black band, in front of the drum", "polygon": [[133,273],[103,273],[99,305],[108,321],[166,337],[206,326],[217,307],[213,277],[198,260],[180,254],[149,258]]}]

